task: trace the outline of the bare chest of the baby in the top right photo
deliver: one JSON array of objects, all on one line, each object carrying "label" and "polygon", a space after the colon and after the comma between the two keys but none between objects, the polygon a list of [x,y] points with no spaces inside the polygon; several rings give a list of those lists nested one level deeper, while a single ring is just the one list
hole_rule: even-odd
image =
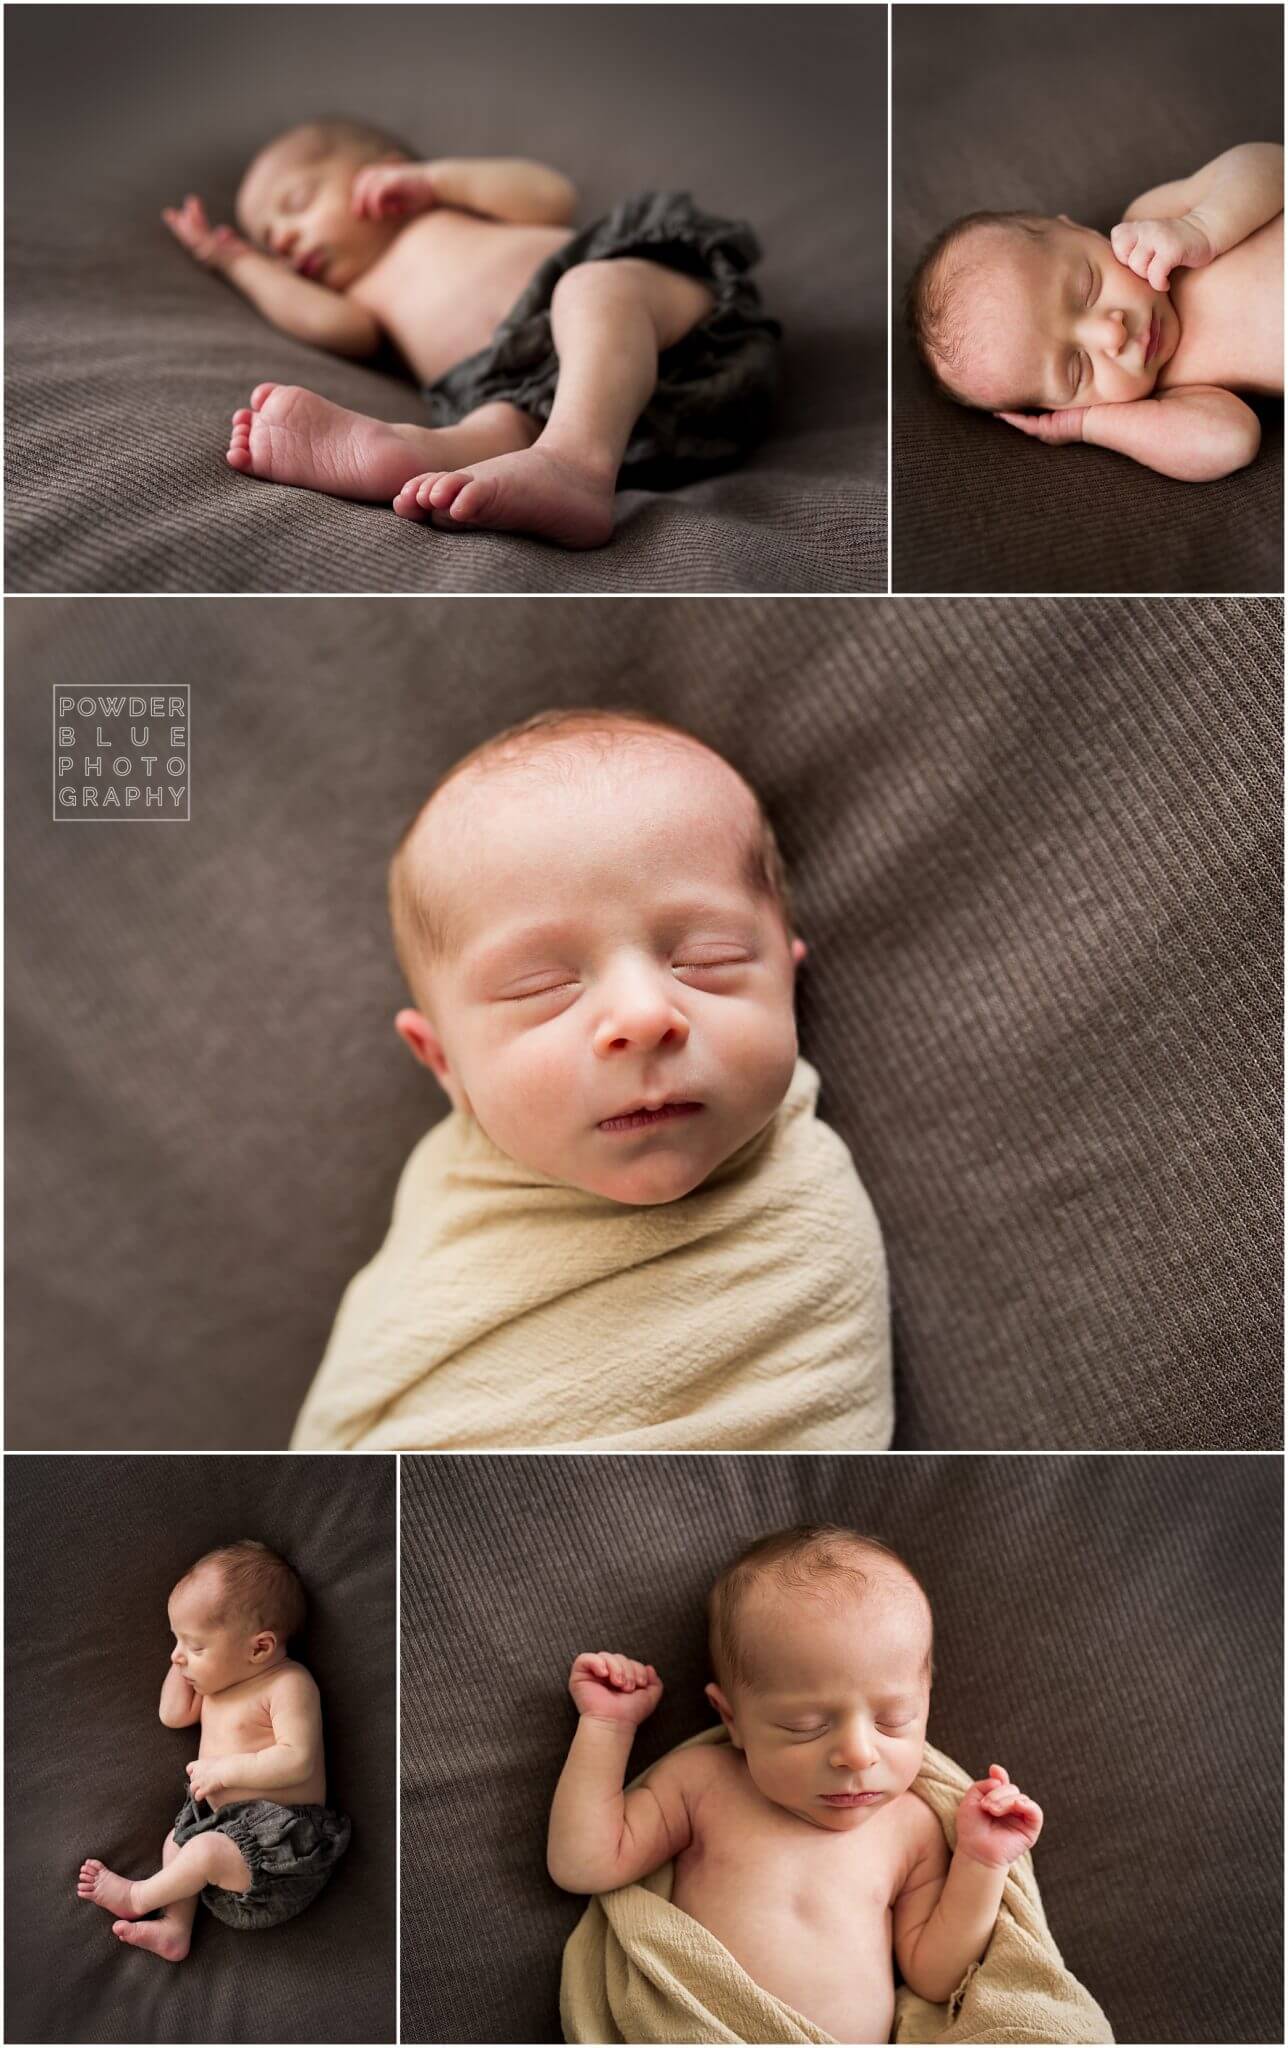
[{"label": "bare chest of the baby in the top right photo", "polygon": [[1171,272],[1182,338],[1159,389],[1284,389],[1284,215],[1202,270]]}]

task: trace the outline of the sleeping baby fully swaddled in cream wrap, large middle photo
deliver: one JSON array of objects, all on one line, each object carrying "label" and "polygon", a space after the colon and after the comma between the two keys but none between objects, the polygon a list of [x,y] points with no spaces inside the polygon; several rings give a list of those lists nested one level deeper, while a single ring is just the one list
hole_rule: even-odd
[{"label": "sleeping baby fully swaddled in cream wrap, large middle photo", "polygon": [[797,1055],[782,858],[743,778],[543,713],[391,864],[412,1153],[293,1448],[881,1450],[885,1257]]}]

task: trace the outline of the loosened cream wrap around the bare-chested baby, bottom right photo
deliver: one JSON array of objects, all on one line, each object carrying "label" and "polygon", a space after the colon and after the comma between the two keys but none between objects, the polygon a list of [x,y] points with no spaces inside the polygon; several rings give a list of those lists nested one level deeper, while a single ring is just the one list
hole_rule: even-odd
[{"label": "loosened cream wrap around the bare-chested baby, bottom right photo", "polygon": [[[729,1741],[706,1729],[694,1743]],[[682,1749],[692,1747],[682,1743]],[[643,1774],[647,1778],[647,1772]],[[639,1782],[639,1780],[637,1780]],[[926,1745],[917,1794],[956,1841],[971,1780]],[[569,2042],[829,2042],[803,2013],[762,1991],[729,1950],[672,1905],[672,1864],[643,1884],[592,1898],[563,1950],[559,2011]],[[1112,2042],[1089,1991],[1050,1937],[1032,1855],[1012,1864],[993,1939],[948,2005],[903,1985],[895,2042]]]}]

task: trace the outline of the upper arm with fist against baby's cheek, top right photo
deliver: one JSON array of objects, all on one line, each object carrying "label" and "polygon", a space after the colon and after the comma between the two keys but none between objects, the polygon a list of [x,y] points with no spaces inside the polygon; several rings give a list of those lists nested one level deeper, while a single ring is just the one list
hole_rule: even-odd
[{"label": "upper arm with fist against baby's cheek, top right photo", "polygon": [[1202,268],[1284,211],[1284,150],[1243,141],[1196,170],[1132,199],[1110,233],[1114,256],[1155,291],[1177,264]]}]

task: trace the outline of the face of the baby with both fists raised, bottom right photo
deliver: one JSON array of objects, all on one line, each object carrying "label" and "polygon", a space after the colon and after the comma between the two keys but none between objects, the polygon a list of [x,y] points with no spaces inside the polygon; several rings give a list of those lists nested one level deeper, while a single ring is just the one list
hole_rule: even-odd
[{"label": "face of the baby with both fists raised, bottom right photo", "polygon": [[930,1622],[907,1581],[854,1599],[752,1587],[739,1614],[752,1686],[719,1696],[758,1792],[850,1833],[907,1792],[930,1712]]}]

